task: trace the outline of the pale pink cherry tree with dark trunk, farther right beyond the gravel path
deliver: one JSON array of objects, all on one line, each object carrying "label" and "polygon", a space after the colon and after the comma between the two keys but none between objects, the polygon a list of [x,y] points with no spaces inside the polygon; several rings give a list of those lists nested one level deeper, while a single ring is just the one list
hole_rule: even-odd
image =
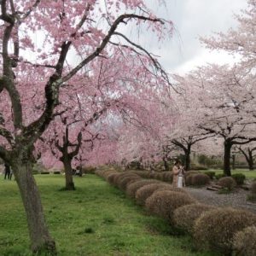
[{"label": "pale pink cherry tree with dark trunk, farther right beyond the gravel path", "polygon": [[230,176],[230,152],[233,145],[255,141],[255,106],[252,88],[255,77],[240,66],[200,67],[184,79],[194,87],[197,125],[203,131],[224,138],[224,174]]}]

